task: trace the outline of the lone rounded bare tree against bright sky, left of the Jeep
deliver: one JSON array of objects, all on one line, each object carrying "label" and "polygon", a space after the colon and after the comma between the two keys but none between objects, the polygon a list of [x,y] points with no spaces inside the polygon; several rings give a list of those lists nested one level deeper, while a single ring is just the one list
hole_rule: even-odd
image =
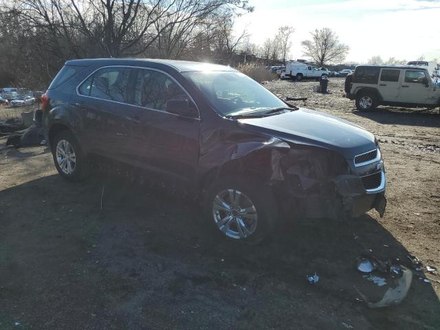
[{"label": "lone rounded bare tree against bright sky, left of the Jeep", "polygon": [[329,28],[310,32],[312,39],[301,42],[303,54],[311,58],[317,65],[342,62],[347,57],[350,48],[340,43],[338,36]]}]

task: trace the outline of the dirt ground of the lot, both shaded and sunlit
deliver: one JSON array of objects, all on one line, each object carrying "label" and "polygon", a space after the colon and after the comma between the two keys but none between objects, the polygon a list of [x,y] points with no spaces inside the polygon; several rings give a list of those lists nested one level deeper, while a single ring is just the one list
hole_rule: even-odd
[{"label": "dirt ground of the lot, both shaded and sunlit", "polygon": [[45,147],[0,137],[0,329],[440,329],[436,274],[414,272],[395,307],[369,309],[355,290],[369,288],[355,269],[364,249],[440,269],[439,109],[360,113],[342,78],[331,94],[316,84],[265,86],[375,133],[386,214],[285,221],[259,246],[212,239],[197,205],[123,177],[69,184]]}]

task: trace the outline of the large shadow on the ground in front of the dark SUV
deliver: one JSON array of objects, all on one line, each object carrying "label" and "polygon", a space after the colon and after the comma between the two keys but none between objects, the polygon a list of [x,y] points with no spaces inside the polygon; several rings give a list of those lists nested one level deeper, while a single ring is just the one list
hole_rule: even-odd
[{"label": "large shadow on the ground in front of the dark SUV", "polygon": [[[355,269],[361,252],[408,255],[368,214],[349,223],[292,219],[262,245],[246,245],[212,235],[194,201],[112,175],[78,184],[51,175],[1,190],[0,201],[2,322],[36,329],[440,324],[439,299],[418,276],[401,305],[373,310],[359,300],[353,286],[368,283]],[[309,285],[315,272],[320,281]]]}]

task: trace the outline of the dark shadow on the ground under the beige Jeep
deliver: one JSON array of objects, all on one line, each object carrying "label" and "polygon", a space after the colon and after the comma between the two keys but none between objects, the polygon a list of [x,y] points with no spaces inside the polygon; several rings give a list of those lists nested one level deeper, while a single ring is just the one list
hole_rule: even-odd
[{"label": "dark shadow on the ground under the beige Jeep", "polygon": [[352,112],[355,115],[374,120],[380,124],[399,124],[440,128],[439,109],[421,111],[421,109],[377,107],[372,111],[358,111],[353,109]]}]

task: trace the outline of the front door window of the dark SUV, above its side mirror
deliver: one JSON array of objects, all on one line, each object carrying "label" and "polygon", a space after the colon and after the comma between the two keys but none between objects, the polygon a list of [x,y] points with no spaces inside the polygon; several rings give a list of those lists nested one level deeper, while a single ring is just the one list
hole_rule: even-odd
[{"label": "front door window of the dark SUV, above its side mirror", "polygon": [[161,72],[139,69],[134,88],[134,104],[165,111],[169,100],[188,100],[186,93],[173,79]]}]

